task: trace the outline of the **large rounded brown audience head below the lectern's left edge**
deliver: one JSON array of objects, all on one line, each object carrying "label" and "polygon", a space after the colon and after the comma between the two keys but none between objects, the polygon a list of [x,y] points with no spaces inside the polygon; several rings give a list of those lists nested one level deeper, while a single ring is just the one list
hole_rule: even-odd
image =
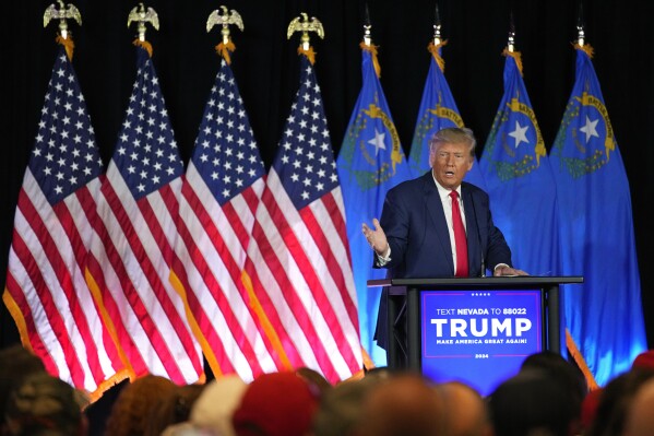
[{"label": "large rounded brown audience head below the lectern's left edge", "polygon": [[393,374],[361,405],[360,436],[445,435],[445,408],[433,386],[418,374]]}]

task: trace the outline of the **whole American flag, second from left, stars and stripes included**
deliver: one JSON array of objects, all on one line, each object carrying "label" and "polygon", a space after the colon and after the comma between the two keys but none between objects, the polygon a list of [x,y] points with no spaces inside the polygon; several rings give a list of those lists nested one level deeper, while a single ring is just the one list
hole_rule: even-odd
[{"label": "whole American flag, second from left, stars and stripes included", "polygon": [[138,76],[98,197],[88,282],[136,376],[203,377],[183,298],[169,282],[182,162],[157,75],[138,48]]}]

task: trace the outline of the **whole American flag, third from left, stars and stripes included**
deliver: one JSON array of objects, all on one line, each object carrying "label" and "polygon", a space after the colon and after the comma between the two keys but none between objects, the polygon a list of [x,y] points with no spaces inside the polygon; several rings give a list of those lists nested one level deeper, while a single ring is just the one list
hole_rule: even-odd
[{"label": "whole American flag, third from left, stars and stripes included", "polygon": [[214,375],[276,370],[241,295],[241,270],[264,167],[231,68],[222,61],[181,188],[179,268],[194,332]]}]

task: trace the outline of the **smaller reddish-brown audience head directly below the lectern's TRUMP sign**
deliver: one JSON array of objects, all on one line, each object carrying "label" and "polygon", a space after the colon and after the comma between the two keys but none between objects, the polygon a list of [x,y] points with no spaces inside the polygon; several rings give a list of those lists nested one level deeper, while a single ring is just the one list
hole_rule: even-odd
[{"label": "smaller reddish-brown audience head directly below the lectern's TRUMP sign", "polygon": [[449,436],[489,436],[492,426],[484,398],[472,387],[449,381],[439,385],[445,405],[445,422]]}]

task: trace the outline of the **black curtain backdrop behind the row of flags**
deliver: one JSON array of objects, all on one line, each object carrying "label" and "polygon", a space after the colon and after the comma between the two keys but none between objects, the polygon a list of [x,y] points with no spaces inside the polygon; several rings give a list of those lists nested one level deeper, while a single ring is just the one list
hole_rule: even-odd
[{"label": "black curtain backdrop behind the row of flags", "polygon": [[[14,210],[34,144],[40,109],[58,49],[58,22],[43,27],[51,3],[3,3],[0,93],[2,190],[0,196],[0,283],[4,284]],[[381,83],[405,153],[409,151],[429,66],[435,0],[368,0],[373,43],[379,46]],[[107,163],[135,78],[135,26],[127,17],[135,1],[74,0],[83,25],[70,23],[75,42],[73,64],[92,123]],[[337,154],[361,85],[365,3],[362,0],[153,0],[160,30],[150,28],[154,64],[185,162],[188,162],[219,58],[214,46],[219,28],[206,33],[209,14],[225,4],[243,19],[233,28],[237,50],[233,69],[266,165],[282,135],[298,86],[299,35],[288,40],[288,23],[300,12],[317,16],[325,38],[314,34],[321,84],[334,152]],[[522,52],[524,81],[548,149],[574,82],[578,0],[439,0],[445,76],[465,123],[478,138],[479,153],[502,96],[509,17],[513,12],[515,46]],[[647,208],[654,177],[654,2],[584,0],[586,42],[595,48],[594,66],[630,180],[642,301],[650,344],[654,342],[654,278]],[[518,266],[520,267],[520,266]],[[616,271],[619,270],[616,266]],[[617,296],[619,297],[619,296]],[[609,328],[607,326],[607,328]],[[0,346],[19,341],[4,305],[0,308]]]}]

